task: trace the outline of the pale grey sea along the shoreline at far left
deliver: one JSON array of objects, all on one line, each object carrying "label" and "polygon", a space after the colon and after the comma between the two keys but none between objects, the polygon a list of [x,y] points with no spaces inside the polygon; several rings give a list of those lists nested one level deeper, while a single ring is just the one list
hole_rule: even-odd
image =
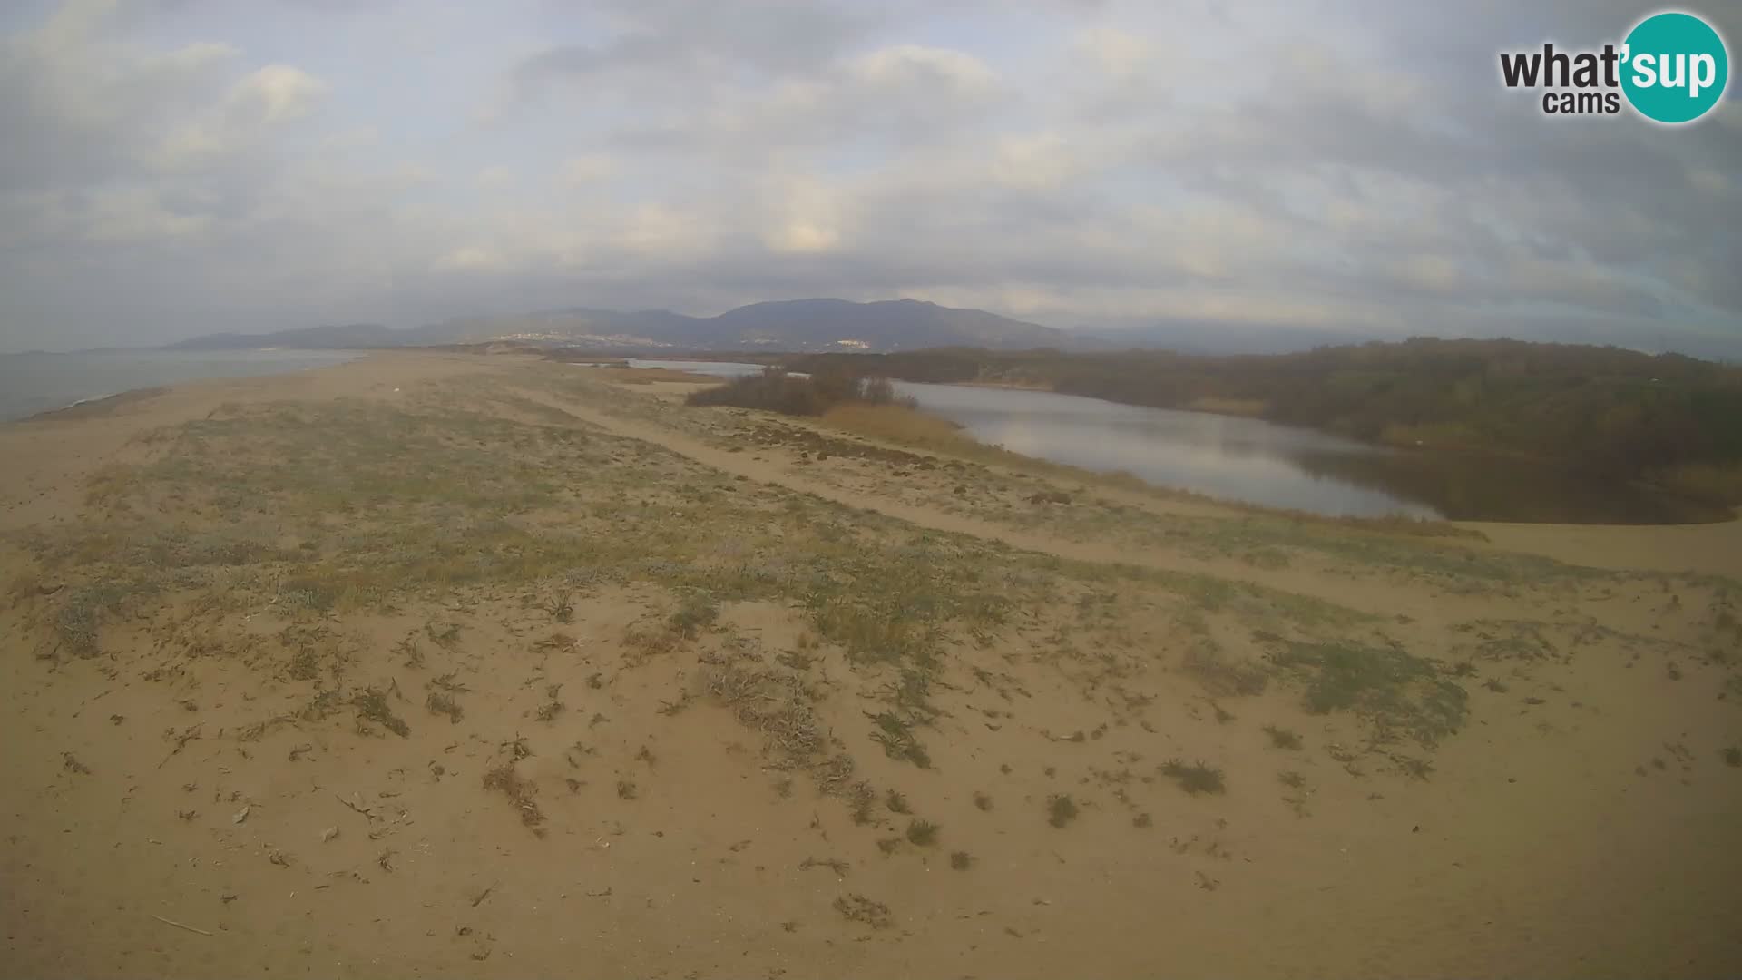
[{"label": "pale grey sea along the shoreline at far left", "polygon": [[66,408],[124,391],[199,378],[249,378],[324,368],[341,350],[89,350],[0,354],[0,420]]}]

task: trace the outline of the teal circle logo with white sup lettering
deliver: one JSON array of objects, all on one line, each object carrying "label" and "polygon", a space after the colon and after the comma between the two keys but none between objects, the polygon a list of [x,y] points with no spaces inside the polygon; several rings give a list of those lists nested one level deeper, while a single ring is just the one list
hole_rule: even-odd
[{"label": "teal circle logo with white sup lettering", "polygon": [[1622,47],[1622,91],[1639,115],[1657,122],[1700,119],[1728,82],[1725,38],[1693,14],[1651,14]]}]

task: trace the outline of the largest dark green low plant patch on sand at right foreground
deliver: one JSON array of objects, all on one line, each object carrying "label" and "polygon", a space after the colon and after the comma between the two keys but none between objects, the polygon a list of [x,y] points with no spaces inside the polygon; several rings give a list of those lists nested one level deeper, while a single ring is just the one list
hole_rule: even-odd
[{"label": "largest dark green low plant patch on sand at right foreground", "polygon": [[1434,661],[1401,649],[1296,643],[1275,659],[1305,678],[1310,713],[1354,711],[1381,739],[1402,731],[1432,746],[1456,732],[1469,715],[1463,687],[1446,680]]}]

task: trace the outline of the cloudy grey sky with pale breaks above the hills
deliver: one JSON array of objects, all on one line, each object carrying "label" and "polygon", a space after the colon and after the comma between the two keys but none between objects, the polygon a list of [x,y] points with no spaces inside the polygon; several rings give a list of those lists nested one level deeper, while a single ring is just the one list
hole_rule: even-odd
[{"label": "cloudy grey sky with pale breaks above the hills", "polygon": [[0,350],[909,296],[1742,356],[1739,84],[1683,127],[1500,84],[1651,10],[7,0]]}]

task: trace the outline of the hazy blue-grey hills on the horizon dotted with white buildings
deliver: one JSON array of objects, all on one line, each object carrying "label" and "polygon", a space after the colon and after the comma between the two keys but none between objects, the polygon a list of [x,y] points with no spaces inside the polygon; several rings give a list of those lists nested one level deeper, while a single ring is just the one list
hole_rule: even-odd
[{"label": "hazy blue-grey hills on the horizon dotted with white buildings", "polygon": [[254,335],[213,333],[171,344],[169,349],[354,349],[481,340],[535,340],[599,352],[916,350],[923,347],[986,347],[993,350],[1059,347],[1082,350],[1106,347],[1104,342],[1038,323],[920,300],[874,303],[786,300],[751,303],[712,317],[693,317],[671,310],[618,312],[575,307],[517,316],[460,317],[409,330],[357,323]]}]

